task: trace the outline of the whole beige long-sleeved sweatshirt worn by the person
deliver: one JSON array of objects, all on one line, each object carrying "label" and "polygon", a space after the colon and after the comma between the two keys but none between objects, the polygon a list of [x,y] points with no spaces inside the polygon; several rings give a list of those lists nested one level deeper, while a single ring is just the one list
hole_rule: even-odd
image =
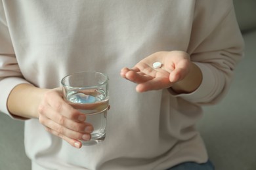
[{"label": "whole beige long-sleeved sweatshirt worn by the person", "polygon": [[[7,97],[17,84],[55,88],[77,71],[108,73],[105,141],[76,149],[37,119],[26,120],[24,144],[33,169],[148,170],[202,163],[208,158],[195,127],[200,105],[216,103],[227,92],[243,46],[232,0],[2,0],[0,110],[9,114]],[[163,50],[191,55],[203,72],[195,92],[137,93],[135,84],[119,76],[122,67]]]}]

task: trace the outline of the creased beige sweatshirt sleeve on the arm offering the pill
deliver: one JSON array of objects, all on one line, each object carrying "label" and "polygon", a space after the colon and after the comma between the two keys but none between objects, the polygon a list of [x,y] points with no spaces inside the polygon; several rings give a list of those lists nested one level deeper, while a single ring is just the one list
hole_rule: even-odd
[{"label": "creased beige sweatshirt sleeve on the arm offering the pill", "polygon": [[199,105],[209,105],[220,101],[228,92],[236,64],[244,56],[244,40],[234,7],[230,6],[226,12],[221,12],[221,7],[214,10],[211,6],[205,14],[199,5],[188,53],[202,71],[202,84],[192,93],[171,91],[173,95]]}]

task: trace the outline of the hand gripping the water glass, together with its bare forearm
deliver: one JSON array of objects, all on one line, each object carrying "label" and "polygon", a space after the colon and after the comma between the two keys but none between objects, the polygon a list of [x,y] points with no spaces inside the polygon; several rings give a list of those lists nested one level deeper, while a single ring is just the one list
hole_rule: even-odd
[{"label": "hand gripping the water glass, together with its bare forearm", "polygon": [[76,148],[81,148],[81,141],[91,139],[93,126],[85,122],[85,114],[64,101],[61,88],[18,84],[10,93],[7,106],[17,118],[38,118],[47,131]]}]

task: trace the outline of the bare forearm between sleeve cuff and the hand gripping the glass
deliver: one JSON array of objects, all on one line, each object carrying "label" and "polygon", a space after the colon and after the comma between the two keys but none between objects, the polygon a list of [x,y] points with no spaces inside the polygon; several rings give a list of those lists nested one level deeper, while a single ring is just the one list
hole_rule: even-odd
[{"label": "bare forearm between sleeve cuff and the hand gripping the glass", "polygon": [[32,84],[19,84],[10,93],[7,107],[15,116],[38,118],[38,106],[47,89],[41,89]]}]

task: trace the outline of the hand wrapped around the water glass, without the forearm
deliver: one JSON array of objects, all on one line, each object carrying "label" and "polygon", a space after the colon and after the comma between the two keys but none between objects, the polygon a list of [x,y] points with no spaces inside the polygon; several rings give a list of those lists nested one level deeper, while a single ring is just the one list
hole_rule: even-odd
[{"label": "hand wrapped around the water glass, without the forearm", "polygon": [[81,141],[89,141],[93,126],[84,122],[85,114],[68,105],[61,88],[45,92],[38,107],[39,122],[53,135],[61,137],[72,146],[81,148]]}]

